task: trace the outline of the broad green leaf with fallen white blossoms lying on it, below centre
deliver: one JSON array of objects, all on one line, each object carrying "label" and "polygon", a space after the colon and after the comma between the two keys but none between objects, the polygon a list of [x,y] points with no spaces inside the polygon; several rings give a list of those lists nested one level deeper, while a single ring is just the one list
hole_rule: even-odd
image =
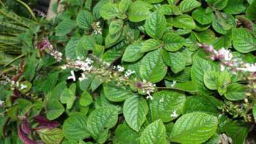
[{"label": "broad green leaf with fallen white blossoms lying on it, below centre", "polygon": [[[153,95],[150,101],[150,114],[152,120],[161,119],[169,122],[181,115],[182,106],[185,102],[185,95],[181,92],[163,90]],[[177,116],[173,116],[176,113]]]}]

